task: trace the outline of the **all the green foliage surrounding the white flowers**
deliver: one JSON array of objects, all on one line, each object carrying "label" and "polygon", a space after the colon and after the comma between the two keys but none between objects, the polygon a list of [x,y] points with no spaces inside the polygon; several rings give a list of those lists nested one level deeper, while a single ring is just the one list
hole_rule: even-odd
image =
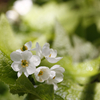
[{"label": "all the green foliage surrounding the white flowers", "polygon": [[[33,0],[31,10],[10,23],[5,13],[14,1],[0,1],[0,100],[99,100],[100,1]],[[57,64],[65,68],[64,80],[57,91],[43,84],[35,89],[11,69],[10,53],[28,41],[33,48],[49,42],[63,56]],[[41,65],[53,66],[45,60]]]}]

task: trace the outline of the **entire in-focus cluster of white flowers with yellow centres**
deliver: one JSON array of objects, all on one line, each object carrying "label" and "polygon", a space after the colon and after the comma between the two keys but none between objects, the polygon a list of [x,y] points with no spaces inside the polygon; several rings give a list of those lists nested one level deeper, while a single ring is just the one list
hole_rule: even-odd
[{"label": "entire in-focus cluster of white flowers with yellow centres", "polygon": [[[38,82],[45,82],[46,84],[53,84],[54,90],[57,89],[57,83],[63,81],[64,68],[60,65],[54,65],[51,68],[46,66],[39,66],[42,59],[45,58],[50,63],[56,63],[62,57],[57,57],[57,51],[50,49],[49,43],[41,46],[36,43],[36,47],[31,49],[32,42],[27,42],[19,50],[11,53],[11,60],[14,61],[11,65],[14,71],[17,71],[17,76],[20,77],[22,73],[26,77],[33,74]],[[36,51],[33,55],[31,51]],[[37,68],[36,68],[37,67]]]}]

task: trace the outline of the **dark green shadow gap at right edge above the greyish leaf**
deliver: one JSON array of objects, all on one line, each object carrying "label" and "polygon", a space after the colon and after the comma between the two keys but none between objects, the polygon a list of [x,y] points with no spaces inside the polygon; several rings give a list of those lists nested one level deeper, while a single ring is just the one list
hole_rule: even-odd
[{"label": "dark green shadow gap at right edge above the greyish leaf", "polygon": [[84,27],[83,19],[80,19],[75,29],[75,34],[90,42],[95,42],[100,39],[100,32],[97,30],[96,24],[92,23],[90,26]]}]

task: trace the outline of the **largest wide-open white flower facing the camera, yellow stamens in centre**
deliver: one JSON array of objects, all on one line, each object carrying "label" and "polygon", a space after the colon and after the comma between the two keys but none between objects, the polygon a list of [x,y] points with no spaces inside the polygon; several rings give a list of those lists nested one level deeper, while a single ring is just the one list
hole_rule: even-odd
[{"label": "largest wide-open white flower facing the camera, yellow stamens in centre", "polygon": [[28,77],[30,74],[33,74],[36,70],[36,66],[40,64],[40,58],[36,55],[32,55],[30,51],[12,52],[11,60],[14,61],[11,65],[14,71],[18,71],[17,76],[20,77],[22,72],[25,76]]}]

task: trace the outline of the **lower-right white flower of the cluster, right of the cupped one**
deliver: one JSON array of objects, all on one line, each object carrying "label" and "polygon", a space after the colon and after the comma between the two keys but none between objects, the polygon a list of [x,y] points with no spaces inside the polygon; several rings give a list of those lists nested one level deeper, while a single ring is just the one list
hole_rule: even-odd
[{"label": "lower-right white flower of the cluster, right of the cupped one", "polygon": [[60,65],[54,65],[50,69],[50,77],[48,80],[46,80],[47,84],[53,84],[54,90],[57,90],[58,86],[57,83],[63,81],[63,72],[65,69],[63,67],[60,67]]}]

